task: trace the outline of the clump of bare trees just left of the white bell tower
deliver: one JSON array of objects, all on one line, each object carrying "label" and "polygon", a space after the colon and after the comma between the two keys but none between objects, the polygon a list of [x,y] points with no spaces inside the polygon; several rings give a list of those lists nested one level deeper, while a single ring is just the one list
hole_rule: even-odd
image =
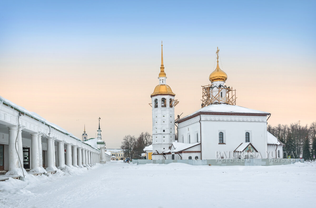
[{"label": "clump of bare trees just left of the white bell tower", "polygon": [[142,132],[137,138],[126,135],[123,138],[121,149],[124,150],[126,157],[130,159],[143,159],[141,156],[144,148],[152,144],[152,136],[148,132]]}]

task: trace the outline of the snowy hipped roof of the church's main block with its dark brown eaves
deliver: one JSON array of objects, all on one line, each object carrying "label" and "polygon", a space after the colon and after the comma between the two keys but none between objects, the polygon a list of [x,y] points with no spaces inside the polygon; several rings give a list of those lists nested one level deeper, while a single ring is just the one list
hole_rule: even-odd
[{"label": "snowy hipped roof of the church's main block with its dark brown eaves", "polygon": [[260,116],[266,116],[270,113],[264,111],[253,110],[246,107],[236,106],[236,105],[228,105],[228,104],[212,104],[206,107],[203,107],[196,112],[185,116],[184,118],[177,121],[177,123],[181,123],[187,119],[193,118],[200,114],[210,114],[210,115],[230,115],[230,114],[255,114]]}]

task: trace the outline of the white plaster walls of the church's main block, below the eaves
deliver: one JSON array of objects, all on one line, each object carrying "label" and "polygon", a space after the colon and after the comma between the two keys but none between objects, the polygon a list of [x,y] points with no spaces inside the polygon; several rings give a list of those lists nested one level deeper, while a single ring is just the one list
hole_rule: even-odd
[{"label": "white plaster walls of the church's main block, below the eaves", "polygon": [[[200,131],[199,116],[179,124],[179,135]],[[217,151],[225,152],[224,158],[233,158],[233,151],[245,142],[245,132],[251,132],[250,141],[262,158],[267,158],[267,123],[265,116],[201,115],[202,159],[217,159]],[[224,132],[226,144],[218,144],[218,133]],[[200,137],[200,136],[199,136]],[[184,143],[187,143],[185,141]],[[218,156],[218,155],[217,155]],[[220,157],[219,157],[220,158]]]}]

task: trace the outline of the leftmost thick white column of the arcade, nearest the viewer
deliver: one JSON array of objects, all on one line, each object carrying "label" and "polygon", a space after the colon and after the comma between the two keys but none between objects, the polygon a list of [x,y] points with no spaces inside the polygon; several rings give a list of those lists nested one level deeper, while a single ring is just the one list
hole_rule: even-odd
[{"label": "leftmost thick white column of the arcade, nearest the viewer", "polygon": [[17,134],[17,126],[8,126],[9,128],[9,171],[14,171],[19,168],[18,153],[15,150],[15,139]]}]

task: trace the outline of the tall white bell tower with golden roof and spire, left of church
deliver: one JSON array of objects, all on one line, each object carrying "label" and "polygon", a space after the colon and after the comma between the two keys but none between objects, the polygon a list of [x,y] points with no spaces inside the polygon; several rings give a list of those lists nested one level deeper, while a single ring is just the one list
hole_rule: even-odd
[{"label": "tall white bell tower with golden roof and spire, left of church", "polygon": [[150,95],[153,121],[153,160],[166,159],[163,152],[169,150],[175,140],[174,107],[179,103],[174,100],[175,94],[166,84],[167,76],[163,65],[161,41],[161,66],[158,76],[159,85]]}]

